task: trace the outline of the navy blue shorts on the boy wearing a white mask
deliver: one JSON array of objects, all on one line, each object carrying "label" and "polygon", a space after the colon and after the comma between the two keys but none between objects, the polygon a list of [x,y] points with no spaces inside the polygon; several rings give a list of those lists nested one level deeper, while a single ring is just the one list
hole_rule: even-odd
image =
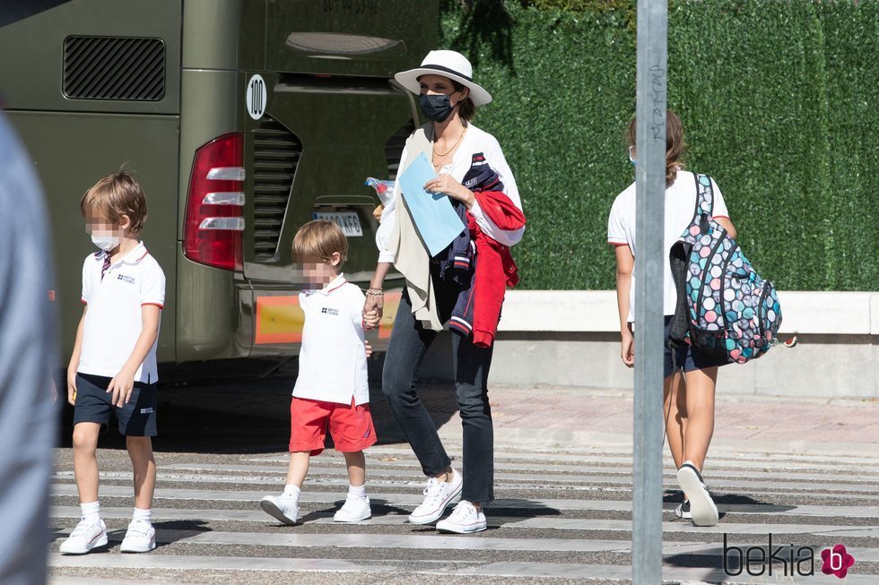
[{"label": "navy blue shorts on the boy wearing a white mask", "polygon": [[107,426],[110,412],[116,415],[119,433],[126,436],[155,436],[156,385],[135,382],[131,400],[118,408],[110,404],[107,391],[112,378],[102,375],[76,374],[74,426],[77,423],[98,423]]}]

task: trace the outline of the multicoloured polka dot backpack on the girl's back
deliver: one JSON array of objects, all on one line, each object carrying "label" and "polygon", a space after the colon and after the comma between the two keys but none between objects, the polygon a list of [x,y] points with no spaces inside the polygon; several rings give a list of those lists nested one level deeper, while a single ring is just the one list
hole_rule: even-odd
[{"label": "multicoloured polka dot backpack on the girl's back", "polygon": [[744,364],[778,342],[779,297],[713,219],[710,177],[694,176],[696,210],[669,253],[677,287],[669,345],[689,343],[718,359]]}]

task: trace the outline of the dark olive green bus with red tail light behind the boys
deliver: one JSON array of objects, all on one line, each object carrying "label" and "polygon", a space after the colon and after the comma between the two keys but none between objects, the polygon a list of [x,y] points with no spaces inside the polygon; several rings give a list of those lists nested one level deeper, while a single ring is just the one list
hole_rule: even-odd
[{"label": "dark olive green bus with red tail light behind the boys", "polygon": [[94,250],[79,200],[123,164],[167,277],[159,361],[295,355],[293,234],[337,221],[344,271],[368,283],[378,199],[363,182],[396,174],[419,112],[393,74],[438,30],[438,0],[4,3],[0,99],[48,197],[65,355]]}]

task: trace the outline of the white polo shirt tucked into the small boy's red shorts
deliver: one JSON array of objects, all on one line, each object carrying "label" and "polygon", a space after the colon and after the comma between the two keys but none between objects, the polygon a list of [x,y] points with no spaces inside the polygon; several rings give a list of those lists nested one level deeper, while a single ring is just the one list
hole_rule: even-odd
[{"label": "white polo shirt tucked into the small boy's red shorts", "polygon": [[339,274],[320,290],[303,290],[305,313],[293,396],[357,405],[370,401],[360,288]]}]

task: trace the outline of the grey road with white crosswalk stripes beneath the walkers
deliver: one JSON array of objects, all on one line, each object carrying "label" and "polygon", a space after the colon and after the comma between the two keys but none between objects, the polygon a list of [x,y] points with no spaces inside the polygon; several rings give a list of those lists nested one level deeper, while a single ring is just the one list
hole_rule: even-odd
[{"label": "grey road with white crosswalk stripes beneath the walkers", "polygon": [[[504,412],[517,391],[494,394]],[[553,391],[541,390],[546,400]],[[568,396],[565,394],[565,396]],[[500,424],[498,500],[490,529],[439,535],[405,522],[420,502],[422,477],[399,443],[387,409],[373,401],[385,442],[369,452],[373,518],[340,526],[332,514],[344,499],[344,460],[327,451],[313,460],[302,497],[304,522],[285,527],[257,506],[283,486],[287,391],[283,384],[188,389],[165,393],[157,441],[159,488],[154,507],[160,546],[121,555],[130,516],[126,453],[114,433],[102,439],[100,501],[110,544],[85,556],[57,554],[79,516],[69,451],[59,449],[53,485],[53,583],[579,583],[628,582],[631,576],[631,447],[624,441],[541,441]],[[460,457],[453,394],[425,391],[448,450]],[[582,399],[582,395],[580,396]],[[561,396],[558,400],[564,400]],[[596,399],[597,400],[597,399]],[[607,400],[605,397],[602,400]],[[65,433],[68,431],[65,430]],[[681,499],[666,461],[663,552],[667,582],[879,582],[879,452],[747,449],[719,442],[706,469],[721,523],[696,528],[674,520]],[[727,575],[729,546],[814,550],[816,576]],[[821,551],[844,544],[856,559],[840,581],[821,574]],[[793,545],[793,547],[789,546]],[[803,549],[803,554],[809,551]],[[734,556],[731,569],[737,570]],[[753,558],[758,553],[753,552]],[[805,571],[807,564],[798,565]],[[753,572],[759,567],[752,565]]]}]

